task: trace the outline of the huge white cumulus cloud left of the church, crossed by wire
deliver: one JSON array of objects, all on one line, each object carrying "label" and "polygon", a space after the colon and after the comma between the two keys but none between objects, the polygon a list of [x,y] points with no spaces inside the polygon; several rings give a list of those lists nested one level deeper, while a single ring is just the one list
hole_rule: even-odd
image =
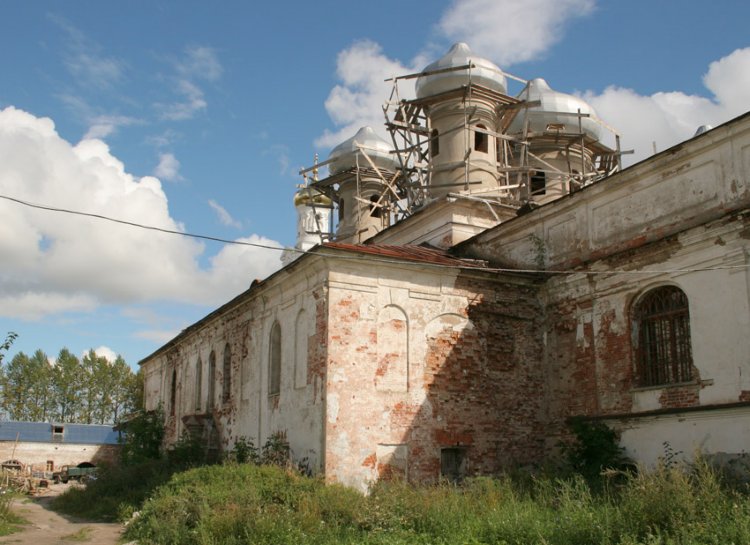
[{"label": "huge white cumulus cloud left of the church, crossed by wire", "polygon": [[[101,140],[72,145],[52,120],[13,107],[0,110],[0,194],[183,230],[159,180],[126,172]],[[155,300],[216,305],[279,266],[276,251],[226,246],[201,267],[205,247],[193,239],[4,199],[0,217],[0,315],[10,318]]]}]

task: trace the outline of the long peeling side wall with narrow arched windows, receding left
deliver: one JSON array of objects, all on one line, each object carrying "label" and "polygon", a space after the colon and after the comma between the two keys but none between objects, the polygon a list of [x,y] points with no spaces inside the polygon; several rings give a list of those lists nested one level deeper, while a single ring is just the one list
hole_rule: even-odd
[{"label": "long peeling side wall with narrow arched windows, receding left", "polygon": [[[213,423],[219,443],[216,446],[222,451],[231,450],[239,437],[261,447],[272,434],[282,433],[295,461],[314,472],[321,469],[326,275],[310,260],[304,264],[304,268],[292,265],[251,288],[239,301],[207,317],[185,338],[143,362],[146,408],[156,408],[159,403],[165,408],[167,444],[174,443],[186,430],[183,417],[197,415]],[[277,395],[269,395],[270,337],[276,322],[281,327],[281,388]],[[225,400],[227,347],[231,354],[231,389]],[[177,373],[174,411],[173,371]],[[209,406],[211,397],[213,405]]]}]

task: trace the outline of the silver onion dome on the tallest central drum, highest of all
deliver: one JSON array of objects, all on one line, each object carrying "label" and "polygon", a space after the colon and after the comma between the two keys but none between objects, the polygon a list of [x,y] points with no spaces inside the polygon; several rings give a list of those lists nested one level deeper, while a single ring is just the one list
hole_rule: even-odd
[{"label": "silver onion dome on the tallest central drum, highest of all", "polygon": [[508,82],[502,70],[492,61],[472,53],[469,46],[463,42],[454,44],[445,56],[427,65],[422,73],[466,66],[467,64],[472,64],[473,67],[419,76],[416,85],[417,98],[452,91],[468,85],[469,82],[488,87],[498,93],[506,94],[508,92]]}]

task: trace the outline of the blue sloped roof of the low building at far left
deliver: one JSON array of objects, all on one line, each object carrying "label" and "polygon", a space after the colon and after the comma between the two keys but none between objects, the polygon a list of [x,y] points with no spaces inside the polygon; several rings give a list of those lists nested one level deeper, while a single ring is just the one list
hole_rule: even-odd
[{"label": "blue sloped roof of the low building at far left", "polygon": [[[62,439],[53,441],[53,427],[62,427]],[[71,443],[76,445],[116,445],[118,434],[112,426],[60,424],[50,422],[0,422],[0,441],[29,443]]]}]

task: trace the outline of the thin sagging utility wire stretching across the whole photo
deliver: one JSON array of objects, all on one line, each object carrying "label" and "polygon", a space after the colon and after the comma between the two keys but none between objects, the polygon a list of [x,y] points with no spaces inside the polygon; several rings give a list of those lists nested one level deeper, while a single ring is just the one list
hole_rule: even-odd
[{"label": "thin sagging utility wire stretching across the whole photo", "polygon": [[[55,206],[47,206],[43,204],[35,204],[28,201],[24,201],[21,199],[17,199],[15,197],[10,197],[8,195],[2,195],[0,194],[0,199],[5,199],[7,201],[11,201],[17,204],[21,204],[23,206],[28,206],[30,208],[36,208],[38,210],[46,210],[49,212],[60,212],[63,214],[72,214],[75,216],[84,216],[89,218],[95,218],[103,221],[109,221],[112,223],[119,223],[121,225],[127,225],[129,227],[136,227],[138,229],[146,229],[148,231],[157,231],[160,233],[166,233],[169,235],[178,235],[183,237],[189,237],[189,238],[195,238],[200,240],[210,240],[213,242],[221,242],[222,244],[235,244],[239,246],[252,246],[254,248],[262,248],[264,250],[276,250],[276,251],[290,251],[295,252],[298,254],[314,254],[321,257],[326,257],[330,259],[341,259],[341,260],[348,260],[348,261],[359,261],[359,262],[367,262],[367,263],[373,263],[373,262],[381,262],[381,263],[406,263],[413,265],[415,262],[419,263],[422,266],[431,267],[431,268],[441,268],[441,269],[464,269],[464,270],[473,270],[473,271],[484,271],[484,272],[501,272],[501,273],[533,273],[533,274],[543,274],[543,275],[563,275],[563,274],[593,274],[593,275],[612,275],[612,274],[635,274],[635,275],[650,275],[650,274],[677,274],[677,273],[690,273],[690,272],[705,272],[705,271],[725,271],[725,270],[737,270],[737,269],[748,269],[750,268],[750,265],[747,263],[742,265],[724,265],[724,266],[715,266],[715,267],[695,267],[695,268],[688,268],[688,269],[658,269],[658,270],[622,270],[622,269],[609,269],[606,271],[593,271],[593,270],[586,270],[586,269],[511,269],[511,268],[498,268],[498,267],[477,267],[477,266],[469,266],[469,265],[460,265],[458,263],[456,264],[443,264],[443,263],[430,263],[425,261],[418,261],[418,260],[410,260],[410,259],[399,259],[397,257],[384,259],[382,257],[376,257],[376,256],[368,256],[367,258],[359,257],[359,256],[351,256],[351,255],[341,255],[338,253],[331,253],[326,251],[315,251],[310,252],[308,250],[300,250],[299,248],[283,248],[279,246],[271,246],[269,244],[261,244],[258,242],[245,242],[242,240],[230,240],[226,238],[221,237],[214,237],[210,235],[201,235],[197,233],[188,233],[185,231],[176,231],[174,229],[165,229],[163,227],[156,227],[153,225],[145,225],[142,223],[137,223],[134,221],[127,221],[127,220],[121,220],[117,218],[112,218],[110,216],[104,216],[102,214],[94,214],[91,212],[81,212],[80,210],[71,210],[68,208],[59,208]],[[325,246],[324,246],[325,247]]]}]

